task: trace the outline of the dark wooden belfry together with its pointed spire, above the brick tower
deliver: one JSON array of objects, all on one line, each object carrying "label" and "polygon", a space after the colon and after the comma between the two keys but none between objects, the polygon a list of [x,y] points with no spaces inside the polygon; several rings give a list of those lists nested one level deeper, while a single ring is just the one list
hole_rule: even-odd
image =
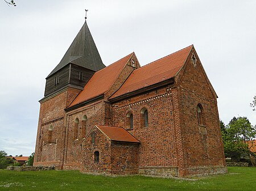
[{"label": "dark wooden belfry together with its pointed spire, above the brick tower", "polygon": [[44,98],[67,87],[82,90],[92,75],[104,67],[85,21],[60,63],[46,78]]}]

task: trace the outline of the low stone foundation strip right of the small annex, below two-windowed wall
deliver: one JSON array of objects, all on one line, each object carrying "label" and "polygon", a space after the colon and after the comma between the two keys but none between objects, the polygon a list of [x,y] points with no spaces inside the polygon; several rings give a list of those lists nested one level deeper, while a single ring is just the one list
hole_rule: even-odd
[{"label": "low stone foundation strip right of the small annex, below two-windowed wall", "polygon": [[139,168],[140,175],[154,175],[154,176],[179,176],[177,167],[141,167]]}]

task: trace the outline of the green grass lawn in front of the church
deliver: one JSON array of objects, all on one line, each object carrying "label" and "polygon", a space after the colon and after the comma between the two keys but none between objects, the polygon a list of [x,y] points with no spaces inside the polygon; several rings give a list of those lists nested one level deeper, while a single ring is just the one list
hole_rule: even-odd
[{"label": "green grass lawn in front of the church", "polygon": [[144,176],[107,177],[78,171],[0,170],[0,190],[256,190],[256,168],[229,167],[229,173],[196,181]]}]

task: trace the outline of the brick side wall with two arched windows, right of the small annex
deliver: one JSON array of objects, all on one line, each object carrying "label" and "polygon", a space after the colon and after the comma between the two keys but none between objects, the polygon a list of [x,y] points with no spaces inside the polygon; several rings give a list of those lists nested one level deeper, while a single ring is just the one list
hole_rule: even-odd
[{"label": "brick side wall with two arched windows, right of the small annex", "polygon": [[[176,111],[168,87],[115,103],[112,107],[113,125],[125,126],[126,115],[133,113],[134,129],[129,130],[141,141],[139,167],[176,167],[179,164],[179,136],[177,136]],[[141,124],[141,110],[148,110],[148,127]]]}]

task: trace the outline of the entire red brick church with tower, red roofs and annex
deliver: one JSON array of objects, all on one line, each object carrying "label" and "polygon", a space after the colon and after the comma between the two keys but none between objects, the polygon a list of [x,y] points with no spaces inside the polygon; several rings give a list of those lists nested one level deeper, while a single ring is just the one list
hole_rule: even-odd
[{"label": "entire red brick church with tower, red roofs and annex", "polygon": [[226,172],[217,95],[193,45],[105,66],[86,22],[46,78],[34,165],[115,175]]}]

